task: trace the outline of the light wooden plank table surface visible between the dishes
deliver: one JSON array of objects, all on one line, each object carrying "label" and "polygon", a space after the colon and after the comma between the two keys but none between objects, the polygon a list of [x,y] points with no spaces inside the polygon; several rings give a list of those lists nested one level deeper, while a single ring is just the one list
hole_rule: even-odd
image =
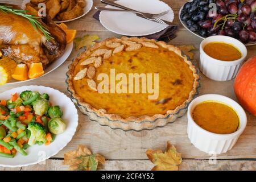
[{"label": "light wooden plank table surface visible between the dishes", "polygon": [[[22,1],[2,1],[20,4]],[[164,0],[172,7],[175,12],[174,22],[179,24],[177,37],[171,40],[170,44],[185,45],[192,44],[197,49],[201,42],[200,38],[192,35],[181,26],[177,12],[180,7],[187,1]],[[94,6],[100,5],[100,0],[94,0]],[[77,36],[90,34],[98,35],[103,40],[112,36],[120,37],[104,28],[100,22],[93,19],[92,15],[96,12],[93,9],[83,18],[69,22],[68,27],[77,30]],[[255,55],[256,46],[247,47],[248,57]],[[67,85],[65,85],[65,73],[68,71],[68,65],[76,57],[75,49],[61,67],[56,71],[36,80],[24,84],[0,86],[0,93],[23,85],[43,85],[58,89],[67,94]],[[199,51],[196,51],[195,59],[199,63]],[[228,96],[237,100],[233,91],[233,81],[217,82],[209,80],[201,74],[200,95],[215,93]],[[170,141],[182,153],[183,163],[181,170],[255,170],[256,169],[256,117],[246,113],[248,123],[245,131],[238,139],[238,142],[232,150],[226,154],[217,155],[215,164],[209,163],[208,154],[201,152],[189,142],[187,136],[187,117],[179,118],[175,123],[171,123],[163,128],[157,128],[152,131],[122,131],[112,130],[108,126],[100,126],[97,122],[90,121],[88,117],[79,111],[79,126],[71,142],[61,150],[57,155],[46,160],[46,163],[36,164],[22,168],[3,168],[0,170],[65,170],[68,166],[63,165],[64,153],[75,150],[77,145],[83,144],[88,146],[93,152],[105,156],[107,159],[104,168],[106,170],[150,170],[154,165],[148,160],[145,152],[148,148],[166,147],[166,142]]]}]

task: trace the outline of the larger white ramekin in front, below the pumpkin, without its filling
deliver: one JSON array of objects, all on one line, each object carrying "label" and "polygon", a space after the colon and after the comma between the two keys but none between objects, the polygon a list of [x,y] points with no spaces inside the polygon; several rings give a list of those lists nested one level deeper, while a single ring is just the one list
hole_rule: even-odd
[{"label": "larger white ramekin in front, below the pumpkin, without its filling", "polygon": [[[215,134],[207,130],[202,129],[199,125],[193,121],[192,111],[195,109],[195,106],[204,101],[218,101],[223,104],[229,105],[232,107],[238,114],[240,118],[240,126],[238,130],[232,134]],[[232,99],[217,95],[217,94],[207,94],[195,98],[188,106],[188,138],[191,140],[191,143],[201,151],[207,152],[208,154],[221,154],[230,150],[234,144],[237,142],[237,139],[245,130],[247,124],[247,117],[245,111],[242,107],[237,104],[236,101]]]}]

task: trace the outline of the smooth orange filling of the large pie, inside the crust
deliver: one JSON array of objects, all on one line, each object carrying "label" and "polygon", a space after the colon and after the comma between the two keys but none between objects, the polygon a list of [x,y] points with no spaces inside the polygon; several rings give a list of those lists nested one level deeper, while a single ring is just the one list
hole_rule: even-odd
[{"label": "smooth orange filling of the large pie, inside the crust", "polygon": [[[102,46],[100,48],[107,47]],[[74,75],[86,68],[85,65],[81,65],[82,61],[84,59],[76,64]],[[129,73],[152,73],[152,75],[158,73],[158,98],[149,100],[148,96],[151,96],[152,93],[142,93],[142,89],[139,93],[129,93],[128,88],[127,93],[110,93],[110,72],[113,69],[115,75],[124,73],[127,78]],[[109,114],[121,115],[122,118],[166,114],[168,110],[176,109],[177,106],[188,100],[195,81],[192,69],[185,63],[183,57],[162,47],[157,49],[142,47],[137,51],[115,53],[109,59],[105,59],[104,63],[96,69],[96,76],[93,80],[97,85],[102,81],[98,80],[101,73],[105,73],[109,77],[109,93],[92,91],[87,84],[87,77],[72,80],[73,88],[83,102],[90,104],[95,109],[105,109]],[[152,80],[152,88],[154,89],[154,77]],[[115,86],[118,82],[120,80],[115,79]],[[142,79],[139,82],[141,85]],[[129,82],[127,81],[128,86]]]}]

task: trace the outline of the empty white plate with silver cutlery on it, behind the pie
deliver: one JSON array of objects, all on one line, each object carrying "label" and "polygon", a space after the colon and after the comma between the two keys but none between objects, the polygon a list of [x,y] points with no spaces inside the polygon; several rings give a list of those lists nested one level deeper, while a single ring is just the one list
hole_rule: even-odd
[{"label": "empty white plate with silver cutlery on it, behind the pie", "polygon": [[[162,16],[161,19],[169,22],[174,20],[174,11],[172,11],[171,7],[166,3],[159,0],[118,0],[115,2],[144,13],[158,14],[170,10],[170,12]],[[110,5],[106,7],[117,9],[117,7]],[[101,11],[100,22],[109,31],[126,36],[155,34],[167,27],[164,24],[141,18],[134,13],[113,11]]]}]

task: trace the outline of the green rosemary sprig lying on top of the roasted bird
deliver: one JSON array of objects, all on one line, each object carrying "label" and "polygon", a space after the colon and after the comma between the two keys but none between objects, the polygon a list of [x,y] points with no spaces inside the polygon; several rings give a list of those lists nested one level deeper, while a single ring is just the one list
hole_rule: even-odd
[{"label": "green rosemary sprig lying on top of the roasted bird", "polygon": [[26,10],[13,9],[10,6],[0,5],[0,10],[3,11],[4,13],[12,13],[28,19],[28,21],[32,24],[34,28],[38,28],[40,31],[42,31],[42,33],[46,37],[46,40],[49,41],[50,39],[53,39],[48,29],[42,26],[42,24],[37,20],[41,17],[35,16],[35,15],[29,15],[27,14]]}]

